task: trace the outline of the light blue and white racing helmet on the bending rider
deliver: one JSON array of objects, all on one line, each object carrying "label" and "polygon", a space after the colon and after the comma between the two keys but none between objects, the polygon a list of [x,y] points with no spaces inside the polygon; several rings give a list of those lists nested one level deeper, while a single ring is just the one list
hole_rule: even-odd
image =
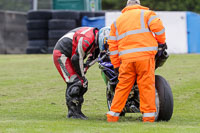
[{"label": "light blue and white racing helmet on the bending rider", "polygon": [[106,50],[108,47],[107,40],[110,34],[110,27],[103,27],[99,30],[98,33],[98,44],[100,51]]}]

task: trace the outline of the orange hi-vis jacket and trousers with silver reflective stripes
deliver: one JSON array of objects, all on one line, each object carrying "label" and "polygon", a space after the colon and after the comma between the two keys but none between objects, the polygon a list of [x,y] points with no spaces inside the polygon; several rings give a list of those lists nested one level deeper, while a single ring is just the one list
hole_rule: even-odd
[{"label": "orange hi-vis jacket and trousers with silver reflective stripes", "polygon": [[111,25],[108,38],[110,59],[119,68],[119,83],[108,122],[116,122],[137,80],[143,121],[155,121],[155,54],[165,43],[165,28],[155,12],[140,5],[127,6]]}]

